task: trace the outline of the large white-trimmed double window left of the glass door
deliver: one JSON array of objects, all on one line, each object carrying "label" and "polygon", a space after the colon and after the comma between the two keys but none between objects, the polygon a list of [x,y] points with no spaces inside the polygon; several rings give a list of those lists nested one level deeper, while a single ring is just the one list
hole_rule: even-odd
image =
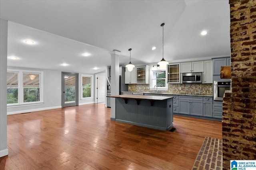
[{"label": "large white-trimmed double window left of the glass door", "polygon": [[42,71],[7,70],[7,106],[42,103]]}]

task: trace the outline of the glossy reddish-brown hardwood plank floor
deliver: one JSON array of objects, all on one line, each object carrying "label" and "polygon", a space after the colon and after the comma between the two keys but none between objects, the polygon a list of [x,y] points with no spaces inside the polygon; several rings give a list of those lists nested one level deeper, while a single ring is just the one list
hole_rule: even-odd
[{"label": "glossy reddish-brown hardwood plank floor", "polygon": [[1,170],[191,170],[204,137],[222,125],[174,116],[174,132],[110,121],[110,108],[88,104],[8,115],[9,155]]}]

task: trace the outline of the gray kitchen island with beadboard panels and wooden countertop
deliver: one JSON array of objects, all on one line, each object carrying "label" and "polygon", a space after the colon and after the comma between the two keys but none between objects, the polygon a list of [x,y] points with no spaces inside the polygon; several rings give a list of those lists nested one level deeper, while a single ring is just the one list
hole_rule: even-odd
[{"label": "gray kitchen island with beadboard panels and wooden countertop", "polygon": [[169,131],[173,127],[172,97],[116,95],[115,121]]}]

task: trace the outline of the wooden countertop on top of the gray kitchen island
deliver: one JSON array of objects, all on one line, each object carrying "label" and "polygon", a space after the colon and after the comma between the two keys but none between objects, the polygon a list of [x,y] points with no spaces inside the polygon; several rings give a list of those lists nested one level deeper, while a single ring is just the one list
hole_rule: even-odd
[{"label": "wooden countertop on top of the gray kitchen island", "polygon": [[128,95],[128,94],[122,94],[122,95],[114,95],[114,96],[107,96],[109,98],[124,98],[124,99],[145,99],[145,100],[166,100],[173,97],[167,97],[167,96],[143,96],[143,95]]}]

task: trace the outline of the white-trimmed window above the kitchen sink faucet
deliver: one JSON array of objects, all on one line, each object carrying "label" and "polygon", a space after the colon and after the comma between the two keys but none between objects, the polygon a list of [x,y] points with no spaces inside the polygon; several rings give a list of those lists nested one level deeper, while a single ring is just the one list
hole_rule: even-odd
[{"label": "white-trimmed window above the kitchen sink faucet", "polygon": [[166,81],[166,70],[151,70],[150,71],[150,90],[168,90]]}]

